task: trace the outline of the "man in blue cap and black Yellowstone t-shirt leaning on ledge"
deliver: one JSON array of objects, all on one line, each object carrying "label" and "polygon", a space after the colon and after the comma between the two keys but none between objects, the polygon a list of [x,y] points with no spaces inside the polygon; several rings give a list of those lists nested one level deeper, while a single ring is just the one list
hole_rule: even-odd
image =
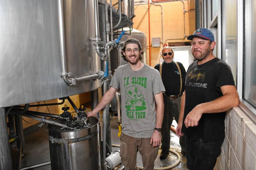
[{"label": "man in blue cap and black Yellowstone t-shirt leaning on ledge", "polygon": [[176,134],[185,134],[188,168],[208,170],[221,153],[225,112],[239,105],[239,96],[230,67],[212,54],[212,32],[199,28],[188,39],[197,61],[186,73]]}]

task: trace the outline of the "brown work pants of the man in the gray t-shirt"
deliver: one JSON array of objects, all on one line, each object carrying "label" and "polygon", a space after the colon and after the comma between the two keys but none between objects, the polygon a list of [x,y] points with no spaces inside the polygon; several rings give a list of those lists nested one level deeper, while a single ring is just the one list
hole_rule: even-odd
[{"label": "brown work pants of the man in the gray t-shirt", "polygon": [[153,170],[158,154],[158,147],[150,145],[150,138],[134,138],[124,133],[120,136],[120,156],[125,170],[139,170],[137,167],[137,152],[142,156],[144,170]]}]

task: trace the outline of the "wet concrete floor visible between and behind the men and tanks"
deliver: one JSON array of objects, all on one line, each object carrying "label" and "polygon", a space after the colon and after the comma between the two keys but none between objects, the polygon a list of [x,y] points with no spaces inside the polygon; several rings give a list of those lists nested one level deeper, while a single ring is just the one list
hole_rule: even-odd
[{"label": "wet concrete floor visible between and behind the men and tanks", "polygon": [[[89,111],[90,109],[86,108],[86,111]],[[102,123],[102,120],[101,120]],[[111,139],[112,139],[112,144],[115,145],[120,145],[120,140],[119,137],[117,137],[118,133],[118,128],[117,128],[117,117],[114,116],[112,121],[111,121]],[[175,120],[173,121],[173,125],[177,126],[177,123]],[[50,154],[49,154],[49,140],[48,140],[48,130],[46,126],[43,126],[42,128],[36,128],[32,131],[29,131],[25,134],[25,145],[26,149],[23,151],[23,156],[21,160],[21,168],[38,164],[38,163],[43,163],[50,161]],[[181,154],[181,149],[179,145],[179,138],[171,131],[171,138],[170,138],[170,145],[171,149],[176,151],[180,155],[180,163],[174,167],[171,168],[172,170],[186,170],[187,165],[186,165],[186,156]],[[119,148],[112,147],[112,151],[119,150]],[[155,160],[155,168],[159,167],[165,167],[165,166],[170,166],[177,161],[177,156],[174,155],[173,153],[170,153],[169,156],[164,159],[160,160],[159,155],[160,155],[161,150],[158,152],[158,156]],[[143,166],[142,165],[142,160],[141,160],[141,155],[138,152],[137,155],[137,165],[138,166]],[[50,170],[51,167],[50,165],[45,166],[45,167],[40,167],[36,168],[35,170]]]}]

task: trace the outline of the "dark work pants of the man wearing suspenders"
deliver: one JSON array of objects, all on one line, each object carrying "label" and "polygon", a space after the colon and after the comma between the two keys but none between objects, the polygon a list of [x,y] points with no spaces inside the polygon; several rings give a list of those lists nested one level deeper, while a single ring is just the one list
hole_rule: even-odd
[{"label": "dark work pants of the man wearing suspenders", "polygon": [[[163,124],[162,124],[162,150],[169,151],[170,149],[170,128],[173,122],[173,117],[176,122],[179,121],[179,112],[180,112],[180,101],[181,97],[177,99],[171,99],[163,95],[164,101],[164,115],[163,115]],[[185,147],[185,136],[179,138],[179,144],[181,151],[186,152]]]}]

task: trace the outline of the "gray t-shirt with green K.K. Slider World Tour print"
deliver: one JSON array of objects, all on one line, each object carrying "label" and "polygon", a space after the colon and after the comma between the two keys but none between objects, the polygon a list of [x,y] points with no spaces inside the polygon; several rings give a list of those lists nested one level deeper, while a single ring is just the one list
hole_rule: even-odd
[{"label": "gray t-shirt with green K.K. Slider World Tour print", "polygon": [[120,89],[122,132],[136,138],[150,138],[156,125],[154,95],[165,91],[159,71],[144,65],[133,71],[129,64],[119,66],[111,87]]}]

